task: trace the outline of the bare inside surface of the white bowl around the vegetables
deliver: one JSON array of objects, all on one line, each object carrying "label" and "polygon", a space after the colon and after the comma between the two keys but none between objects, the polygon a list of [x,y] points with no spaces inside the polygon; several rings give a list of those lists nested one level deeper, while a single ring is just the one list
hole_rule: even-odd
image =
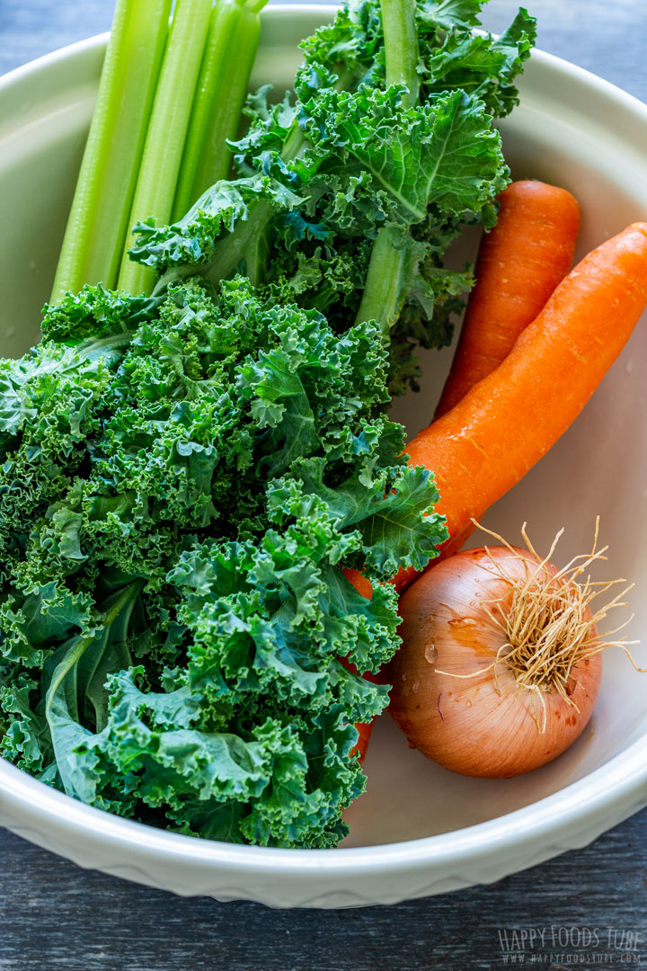
[{"label": "bare inside surface of the white bowl around the vegetables", "polygon": [[[252,86],[289,87],[299,63],[297,44],[325,17],[302,10],[268,17]],[[81,46],[46,58],[39,70],[16,72],[0,86],[0,354],[16,356],[39,336],[49,288],[91,116],[103,49]],[[647,218],[647,110],[636,127],[636,106],[617,103],[608,85],[546,56],[535,57],[521,84],[522,102],[502,125],[503,147],[515,178],[537,178],[570,189],[583,225],[578,254],[632,221]],[[473,256],[466,237],[453,258]],[[635,583],[626,630],[647,630],[647,398],[640,362],[647,358],[647,321],[636,327],[584,412],[522,483],[494,507],[484,524],[519,542],[528,521],[537,550],[547,551],[566,526],[556,558],[590,549],[596,517],[609,544],[598,579]],[[428,352],[423,390],[393,406],[415,433],[431,419],[451,349]],[[481,542],[478,537],[473,545]],[[620,619],[620,618],[619,618]],[[647,647],[633,649],[647,666]],[[407,749],[388,716],[375,727],[366,768],[367,792],[347,812],[348,846],[408,840],[491,820],[534,803],[581,779],[622,753],[647,731],[647,692],[619,650],[604,657],[602,689],[580,740],[543,769],[513,780],[470,780],[446,772]]]}]

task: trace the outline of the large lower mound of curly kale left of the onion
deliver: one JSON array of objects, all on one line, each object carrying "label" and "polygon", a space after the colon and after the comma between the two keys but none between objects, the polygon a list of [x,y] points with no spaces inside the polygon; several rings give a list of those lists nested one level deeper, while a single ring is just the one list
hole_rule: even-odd
[{"label": "large lower mound of curly kale left of the onion", "polygon": [[[215,297],[171,286],[145,318],[83,299],[0,368],[6,496],[23,470],[0,506],[0,751],[182,832],[334,845],[364,787],[354,724],[386,703],[340,658],[389,659],[384,580],[445,537],[431,477],[379,414],[386,345],[243,278]],[[118,311],[92,344],[80,321],[98,303]]]}]

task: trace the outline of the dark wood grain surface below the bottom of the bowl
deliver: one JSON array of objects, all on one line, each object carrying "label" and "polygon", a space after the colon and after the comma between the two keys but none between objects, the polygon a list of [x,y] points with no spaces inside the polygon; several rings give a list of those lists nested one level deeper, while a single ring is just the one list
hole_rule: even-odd
[{"label": "dark wood grain surface below the bottom of the bowl", "polygon": [[[137,887],[0,831],[2,971],[471,971],[502,966],[512,929],[640,933],[647,964],[647,817],[494,887],[394,907],[274,911]],[[561,931],[561,933],[564,933]],[[589,949],[590,950],[590,949]],[[584,953],[535,947],[534,954]],[[531,952],[525,963],[530,962]],[[599,958],[598,958],[599,959]],[[615,961],[603,961],[615,966]],[[566,960],[544,967],[568,966]],[[590,969],[595,964],[577,965]]]}]

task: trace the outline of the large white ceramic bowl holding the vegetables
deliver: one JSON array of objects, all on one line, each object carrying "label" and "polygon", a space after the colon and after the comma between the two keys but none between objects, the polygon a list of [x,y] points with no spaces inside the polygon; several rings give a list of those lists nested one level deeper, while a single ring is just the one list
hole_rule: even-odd
[{"label": "large white ceramic bowl holding the vegetables", "polygon": [[[289,86],[298,41],[332,14],[300,5],[264,13],[252,84]],[[38,337],[96,94],[106,37],[57,51],[0,82],[0,353]],[[562,184],[580,200],[580,251],[647,218],[647,108],[564,61],[537,51],[522,103],[502,125],[516,177]],[[426,359],[417,399],[394,409],[411,432],[429,419],[449,353]],[[647,399],[645,321],[562,441],[491,511],[513,542],[529,520],[547,548],[566,525],[563,556],[589,547],[596,515],[611,546],[608,576],[636,582],[647,630]],[[636,650],[645,663],[645,652]],[[117,819],[44,786],[0,760],[0,823],[81,866],[182,894],[274,906],[342,907],[491,883],[599,833],[647,804],[647,691],[621,652],[608,653],[590,727],[567,753],[513,780],[451,775],[409,752],[388,717],[367,759],[368,791],[347,812],[339,850],[275,850],[201,841]]]}]

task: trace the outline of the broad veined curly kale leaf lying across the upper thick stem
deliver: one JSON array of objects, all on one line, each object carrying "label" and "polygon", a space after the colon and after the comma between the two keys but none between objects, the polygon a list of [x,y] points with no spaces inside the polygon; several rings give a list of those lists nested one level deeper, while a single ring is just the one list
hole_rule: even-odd
[{"label": "broad veined curly kale leaf lying across the upper thick stem", "polygon": [[408,226],[434,206],[447,217],[492,204],[507,182],[501,140],[478,100],[461,91],[404,108],[402,90],[328,92],[306,106],[319,162],[345,177],[367,173],[386,224]]}]

